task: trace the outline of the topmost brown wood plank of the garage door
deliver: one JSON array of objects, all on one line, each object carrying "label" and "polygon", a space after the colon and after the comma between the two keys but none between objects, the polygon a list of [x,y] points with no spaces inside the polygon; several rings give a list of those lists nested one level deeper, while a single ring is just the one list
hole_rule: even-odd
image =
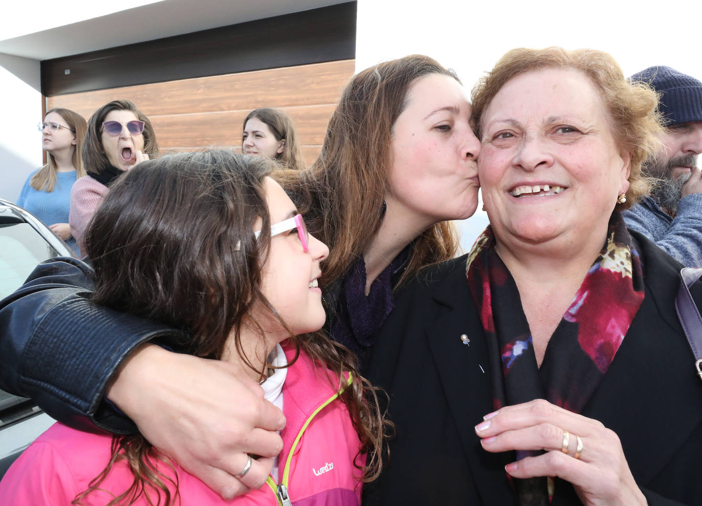
[{"label": "topmost brown wood plank of the garage door", "polygon": [[166,116],[213,111],[248,111],[257,107],[333,104],[353,75],[355,60],[242,72],[166,83],[126,86],[49,97],[49,107],[71,109],[86,118],[117,98],[134,102],[144,114]]}]

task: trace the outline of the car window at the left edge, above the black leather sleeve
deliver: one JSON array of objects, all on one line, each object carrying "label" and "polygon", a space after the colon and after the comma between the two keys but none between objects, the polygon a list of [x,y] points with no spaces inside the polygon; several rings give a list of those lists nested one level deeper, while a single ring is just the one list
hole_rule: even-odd
[{"label": "car window at the left edge, above the black leather sleeve", "polygon": [[0,226],[0,299],[20,287],[37,264],[58,252],[31,225]]}]

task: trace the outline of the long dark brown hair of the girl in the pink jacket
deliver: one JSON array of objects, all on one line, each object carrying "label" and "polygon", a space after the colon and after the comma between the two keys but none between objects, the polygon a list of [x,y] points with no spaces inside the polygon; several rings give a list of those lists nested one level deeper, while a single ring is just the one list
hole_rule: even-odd
[{"label": "long dark brown hair of the girl in the pink jacket", "polygon": [[[334,371],[340,383],[344,371],[357,378],[340,398],[359,434],[360,452],[369,453],[368,481],[380,472],[377,456],[386,427],[373,388],[354,371],[354,355],[343,346],[319,332],[305,339],[293,336],[260,290],[270,236],[256,240],[252,231],[258,218],[262,229],[270,227],[263,185],[273,165],[267,158],[213,150],[147,160],[127,172],[112,186],[86,233],[95,269],[93,301],[180,329],[184,339],[173,343],[175,348],[213,359],[222,357],[232,332],[243,353],[244,320],[253,320],[254,305],[267,308],[297,350]],[[265,371],[258,372],[265,377]],[[158,504],[163,495],[165,505],[172,503],[166,482],[176,491],[177,483],[157,470],[152,459],[166,459],[141,435],[114,437],[110,465],[76,502],[99,487],[119,458],[128,461],[135,478],[110,505],[131,504],[142,494],[156,495]]]}]

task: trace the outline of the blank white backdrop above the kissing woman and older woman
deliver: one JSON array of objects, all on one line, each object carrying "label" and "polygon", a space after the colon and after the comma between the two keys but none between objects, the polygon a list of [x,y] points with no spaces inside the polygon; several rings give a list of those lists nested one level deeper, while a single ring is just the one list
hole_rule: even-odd
[{"label": "blank white backdrop above the kissing woman and older woman", "polygon": [[[458,72],[466,88],[517,47],[595,48],[630,76],[668,65],[702,79],[702,2],[358,0],[356,69],[420,53]],[[487,223],[480,210],[461,224],[463,247]]]}]

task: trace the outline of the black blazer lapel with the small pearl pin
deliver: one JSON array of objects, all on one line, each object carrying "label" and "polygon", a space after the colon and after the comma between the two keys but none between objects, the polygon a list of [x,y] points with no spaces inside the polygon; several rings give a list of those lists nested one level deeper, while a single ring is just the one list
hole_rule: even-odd
[{"label": "black blazer lapel with the small pearl pin", "polygon": [[[515,499],[504,467],[514,456],[484,451],[475,434],[475,425],[494,407],[482,325],[465,279],[465,264],[461,266],[435,287],[432,301],[443,308],[425,329],[426,337],[482,502],[509,505]],[[463,334],[468,344],[463,344]]]}]

